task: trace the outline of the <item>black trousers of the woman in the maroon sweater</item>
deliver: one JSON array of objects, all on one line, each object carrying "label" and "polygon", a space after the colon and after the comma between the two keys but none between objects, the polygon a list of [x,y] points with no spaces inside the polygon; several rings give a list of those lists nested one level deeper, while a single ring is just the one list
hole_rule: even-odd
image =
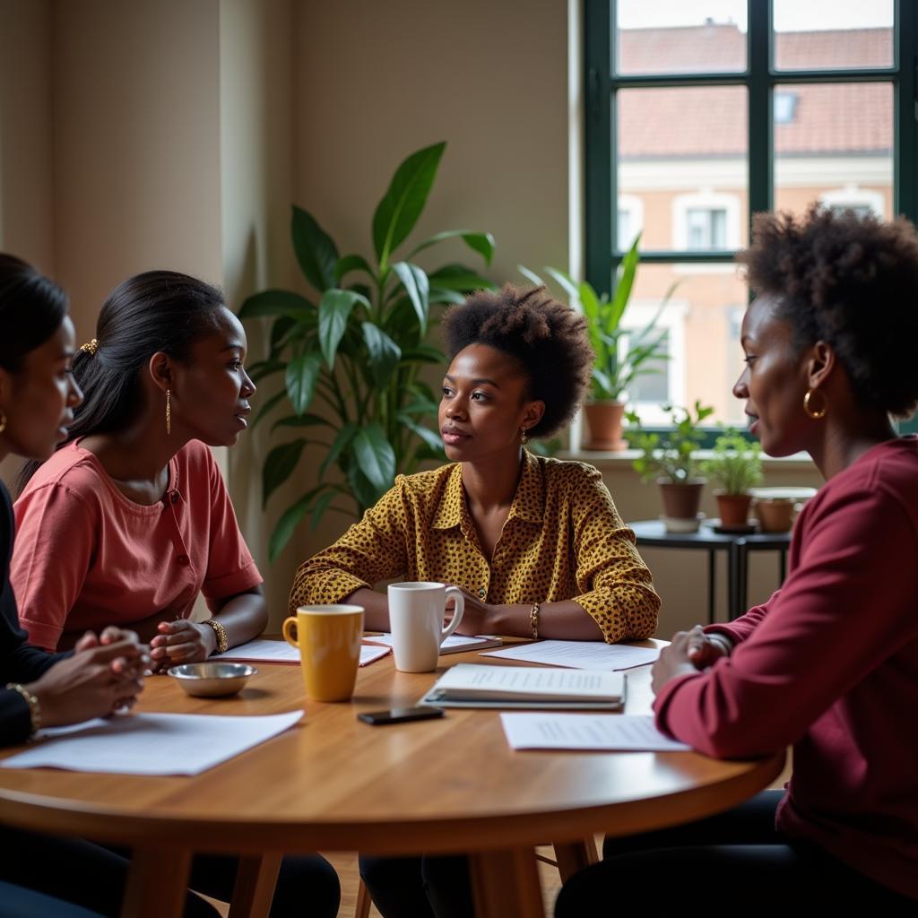
[{"label": "black trousers of the woman in the maroon sweater", "polygon": [[[570,879],[555,918],[619,914],[641,908],[677,914],[780,914],[812,907],[875,914],[918,914],[918,900],[868,879],[816,845],[775,829],[783,791],[766,790],[733,810],[697,823],[607,838],[604,859]],[[672,911],[669,911],[672,910]]]}]

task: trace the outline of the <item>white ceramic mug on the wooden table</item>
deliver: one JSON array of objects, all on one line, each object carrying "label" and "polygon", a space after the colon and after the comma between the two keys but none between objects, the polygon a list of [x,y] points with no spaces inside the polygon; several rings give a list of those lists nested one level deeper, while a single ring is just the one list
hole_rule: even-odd
[{"label": "white ceramic mug on the wooden table", "polygon": [[[453,621],[443,627],[446,599],[453,597]],[[389,628],[396,669],[403,673],[429,673],[437,668],[440,645],[452,634],[465,610],[465,597],[458,587],[442,583],[393,583],[389,585]]]}]

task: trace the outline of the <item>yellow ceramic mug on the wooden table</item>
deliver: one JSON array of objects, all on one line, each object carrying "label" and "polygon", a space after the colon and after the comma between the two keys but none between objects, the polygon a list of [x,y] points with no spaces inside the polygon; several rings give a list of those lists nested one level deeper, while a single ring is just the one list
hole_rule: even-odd
[{"label": "yellow ceramic mug on the wooden table", "polygon": [[297,617],[284,622],[287,643],[299,648],[307,698],[351,698],[363,634],[363,606],[300,606]]}]

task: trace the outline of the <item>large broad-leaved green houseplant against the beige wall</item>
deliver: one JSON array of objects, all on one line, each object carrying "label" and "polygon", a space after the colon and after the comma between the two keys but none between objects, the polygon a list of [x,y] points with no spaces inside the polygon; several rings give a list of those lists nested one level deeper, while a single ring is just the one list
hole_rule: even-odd
[{"label": "large broad-leaved green houseplant against the beige wall", "polygon": [[[359,515],[397,473],[414,471],[425,458],[445,458],[436,432],[439,399],[420,378],[424,364],[441,364],[444,355],[427,333],[439,318],[437,307],[493,285],[458,263],[427,272],[415,257],[448,239],[464,241],[486,264],[494,252],[489,233],[454,229],[396,254],[420,218],[445,146],[426,147],[398,166],[375,209],[371,259],[342,256],[319,221],[293,207],[297,262],[316,297],[272,289],[242,304],[241,319],[273,319],[268,354],[252,364],[252,379],[284,380],[252,426],[283,406],[287,411],[272,431],[296,434],[265,459],[263,505],[304,457],[319,472],[318,484],[274,527],[272,560],[307,517],[315,525],[329,509]],[[340,474],[331,480],[333,466]]]}]

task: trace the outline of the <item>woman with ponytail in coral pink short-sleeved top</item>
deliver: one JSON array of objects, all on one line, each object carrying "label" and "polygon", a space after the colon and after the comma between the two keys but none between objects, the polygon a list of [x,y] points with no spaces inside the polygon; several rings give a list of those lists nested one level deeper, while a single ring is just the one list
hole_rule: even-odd
[{"label": "woman with ponytail in coral pink short-sleeved top", "polygon": [[[108,297],[73,362],[84,402],[66,441],[20,479],[12,580],[34,644],[129,625],[165,668],[263,631],[262,577],[207,449],[245,430],[245,348],[220,292],[186,274]],[[194,622],[199,592],[212,617]]]}]

